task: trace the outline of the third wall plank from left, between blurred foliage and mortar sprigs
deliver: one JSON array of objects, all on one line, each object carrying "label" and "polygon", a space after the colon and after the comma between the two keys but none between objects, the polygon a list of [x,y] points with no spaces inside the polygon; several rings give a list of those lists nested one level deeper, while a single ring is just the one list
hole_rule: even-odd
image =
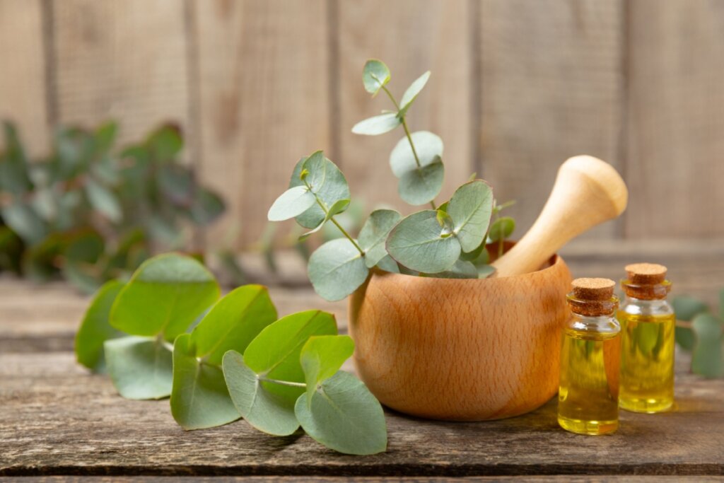
[{"label": "third wall plank from left, between blurred foliage and mortar sprigs", "polygon": [[329,147],[324,0],[193,1],[201,177],[227,199],[211,245],[240,224],[258,239],[302,156]]}]

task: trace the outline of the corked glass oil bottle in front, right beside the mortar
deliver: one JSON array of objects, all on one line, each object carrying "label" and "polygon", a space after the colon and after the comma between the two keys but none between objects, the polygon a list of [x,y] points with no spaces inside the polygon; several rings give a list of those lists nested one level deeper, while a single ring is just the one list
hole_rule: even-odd
[{"label": "corked glass oil bottle in front, right beside the mortar", "polygon": [[615,319],[615,282],[573,280],[571,319],[563,329],[558,424],[579,434],[618,429],[620,326]]}]

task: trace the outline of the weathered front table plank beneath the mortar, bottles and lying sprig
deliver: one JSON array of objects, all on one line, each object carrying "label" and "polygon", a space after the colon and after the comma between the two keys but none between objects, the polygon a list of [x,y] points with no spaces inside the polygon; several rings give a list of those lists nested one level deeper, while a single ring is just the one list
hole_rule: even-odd
[{"label": "weathered front table plank beneath the mortar, bottles and lying sprig", "polygon": [[167,400],[120,398],[70,353],[0,354],[0,475],[476,476],[724,474],[724,379],[680,374],[678,408],[622,411],[618,432],[581,437],[556,401],[513,419],[426,421],[387,413],[387,453],[359,458],[244,421],[184,432]]}]

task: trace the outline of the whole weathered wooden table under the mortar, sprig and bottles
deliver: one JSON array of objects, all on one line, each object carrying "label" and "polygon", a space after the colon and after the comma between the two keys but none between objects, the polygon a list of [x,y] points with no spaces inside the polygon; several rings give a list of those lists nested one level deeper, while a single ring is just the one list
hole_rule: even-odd
[{"label": "whole weathered wooden table under the mortar, sprig and bottles", "polygon": [[[624,263],[651,253],[634,244],[599,247],[592,256],[581,246],[565,252],[574,276],[615,277]],[[676,256],[657,252],[654,258],[668,264],[678,293],[712,301],[715,289],[724,285],[723,252],[724,247],[693,247]],[[271,286],[281,314],[324,308],[337,314],[345,331],[345,303],[321,301],[303,285],[303,277],[287,275],[291,287]],[[264,277],[279,282],[256,274]],[[703,481],[724,475],[724,380],[688,374],[685,356],[678,358],[675,411],[622,411],[620,429],[612,435],[564,432],[555,420],[555,399],[525,416],[480,423],[426,421],[387,411],[387,453],[353,457],[327,450],[305,434],[270,437],[245,421],[184,432],[174,423],[168,400],[119,397],[109,379],[75,364],[72,337],[86,303],[62,283],[38,287],[0,278],[0,476],[55,475],[50,478],[55,481],[84,475],[256,475],[265,482],[374,476],[371,481],[379,482],[401,476],[547,481],[565,475],[588,475],[576,481],[632,475],[644,481],[667,475]]]}]

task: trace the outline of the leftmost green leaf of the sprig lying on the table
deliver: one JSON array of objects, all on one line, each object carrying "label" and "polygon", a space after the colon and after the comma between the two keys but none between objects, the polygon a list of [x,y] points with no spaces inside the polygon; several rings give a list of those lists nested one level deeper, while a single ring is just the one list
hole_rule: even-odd
[{"label": "leftmost green leaf of the sprig lying on the table", "polygon": [[108,323],[111,306],[122,287],[123,282],[110,280],[98,289],[98,293],[85,311],[83,322],[80,322],[80,329],[75,334],[75,358],[94,372],[106,370],[103,356],[104,342],[122,334]]}]

